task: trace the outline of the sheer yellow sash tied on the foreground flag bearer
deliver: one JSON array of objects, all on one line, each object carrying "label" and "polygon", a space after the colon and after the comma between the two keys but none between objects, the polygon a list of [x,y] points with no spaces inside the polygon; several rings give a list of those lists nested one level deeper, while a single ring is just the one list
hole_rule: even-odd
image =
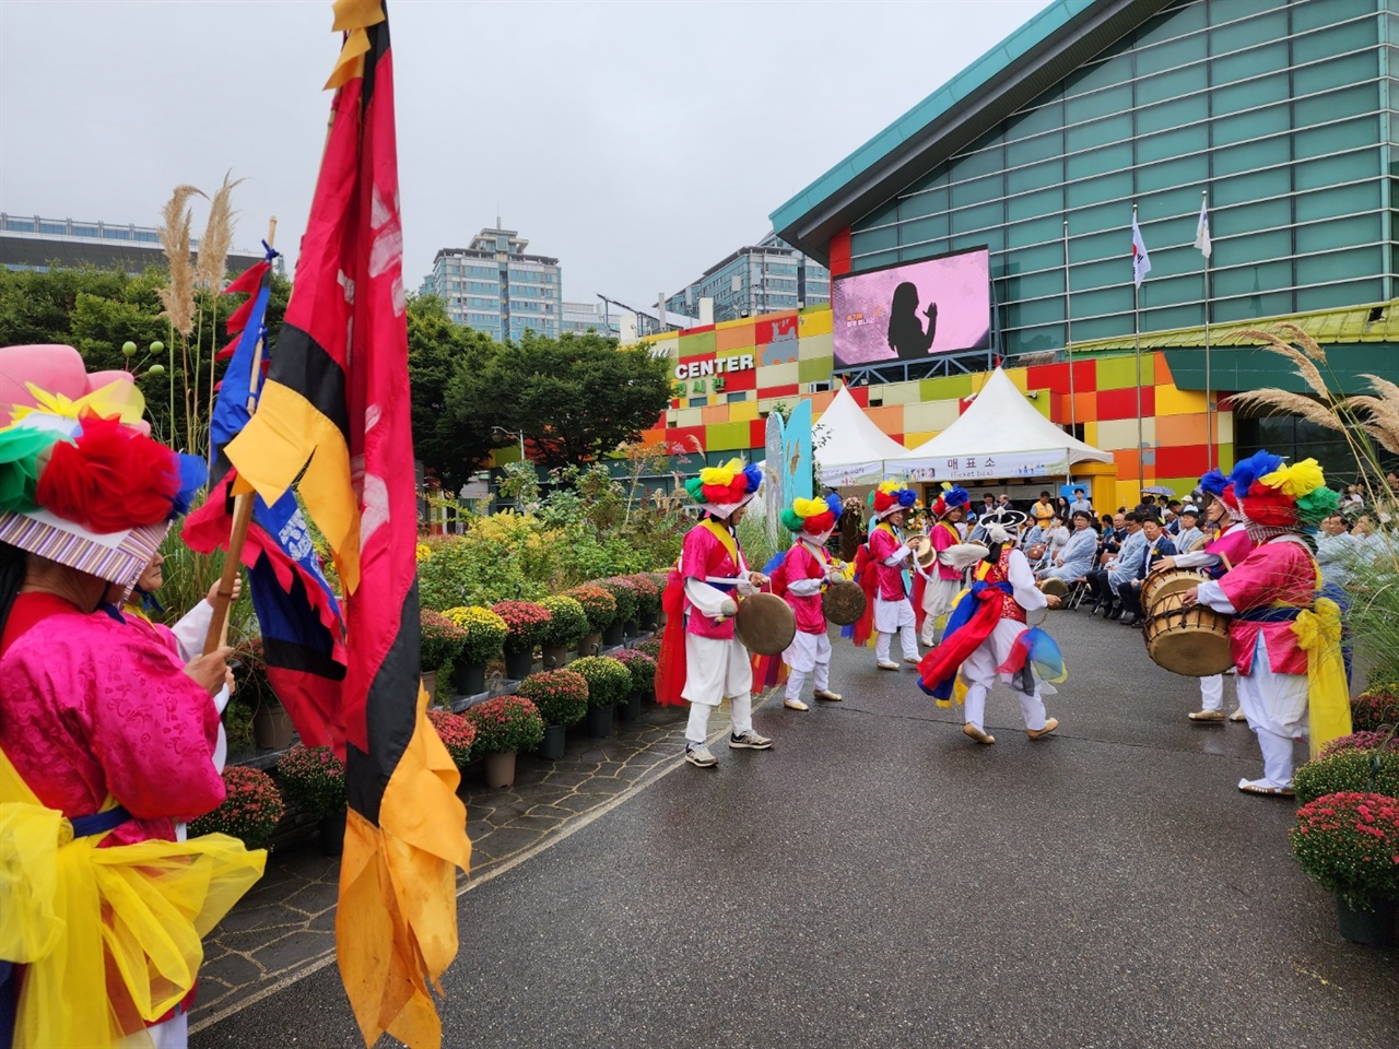
[{"label": "sheer yellow sash tied on the foreground flag bearer", "polygon": [[267,862],[224,834],[109,849],[97,848],[101,838],[74,839],[0,751],[0,958],[27,966],[15,1045],[143,1039],[113,1014],[108,969],[143,1020],[162,1017],[194,986],[201,937]]}]

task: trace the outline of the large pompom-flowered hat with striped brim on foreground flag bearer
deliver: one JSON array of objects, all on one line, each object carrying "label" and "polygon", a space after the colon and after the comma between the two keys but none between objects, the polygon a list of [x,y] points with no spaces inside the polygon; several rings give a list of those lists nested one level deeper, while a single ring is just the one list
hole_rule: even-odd
[{"label": "large pompom-flowered hat with striped brim on foreground flag bearer", "polygon": [[144,432],[145,400],[130,376],[97,390],[25,383],[20,394],[24,372],[52,375],[49,351],[77,357],[32,350],[43,352],[3,357],[13,403],[0,406],[0,541],[132,586],[189,511],[204,463]]}]

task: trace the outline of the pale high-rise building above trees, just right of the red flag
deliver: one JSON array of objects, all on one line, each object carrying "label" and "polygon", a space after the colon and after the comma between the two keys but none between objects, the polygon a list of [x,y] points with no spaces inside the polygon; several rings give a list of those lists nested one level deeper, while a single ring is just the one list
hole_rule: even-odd
[{"label": "pale high-rise building above trees, just right of the red flag", "polygon": [[470,248],[438,250],[420,291],[438,295],[452,320],[491,338],[519,341],[526,331],[557,338],[562,270],[558,259],[526,248],[529,241],[515,229],[483,229]]}]

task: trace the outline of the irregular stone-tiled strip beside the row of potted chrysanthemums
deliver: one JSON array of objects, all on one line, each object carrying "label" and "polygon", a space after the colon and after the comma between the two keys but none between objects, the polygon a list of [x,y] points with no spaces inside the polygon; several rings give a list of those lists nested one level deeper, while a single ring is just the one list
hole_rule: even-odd
[{"label": "irregular stone-tiled strip beside the row of potted chrysanthemums", "polygon": [[[508,870],[674,768],[684,725],[684,708],[645,704],[637,720],[617,723],[604,740],[575,726],[557,762],[520,755],[513,786],[487,789],[480,769],[467,768],[460,796],[471,871],[457,891]],[[269,856],[263,880],[204,940],[192,1032],[334,962],[339,878],[340,860],[322,856],[316,841]]]}]

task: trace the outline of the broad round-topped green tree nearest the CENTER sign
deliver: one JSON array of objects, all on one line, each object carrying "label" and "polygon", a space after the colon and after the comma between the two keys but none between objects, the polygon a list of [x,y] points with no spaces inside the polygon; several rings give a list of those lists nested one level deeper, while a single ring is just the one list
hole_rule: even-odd
[{"label": "broad round-topped green tree nearest the CENTER sign", "polygon": [[474,404],[463,397],[459,407],[523,434],[534,442],[534,462],[558,467],[637,441],[656,425],[672,390],[666,361],[589,331],[560,338],[526,333],[518,345],[502,345],[473,394]]}]

